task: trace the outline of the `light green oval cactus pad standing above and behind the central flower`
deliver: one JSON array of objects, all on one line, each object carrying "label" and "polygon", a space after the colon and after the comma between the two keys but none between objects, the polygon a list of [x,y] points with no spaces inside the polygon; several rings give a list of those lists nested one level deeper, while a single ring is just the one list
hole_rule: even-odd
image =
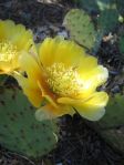
[{"label": "light green oval cactus pad standing above and behind the central flower", "polygon": [[92,49],[95,42],[94,24],[89,14],[83,10],[72,9],[64,18],[63,24],[70,35],[79,44]]}]

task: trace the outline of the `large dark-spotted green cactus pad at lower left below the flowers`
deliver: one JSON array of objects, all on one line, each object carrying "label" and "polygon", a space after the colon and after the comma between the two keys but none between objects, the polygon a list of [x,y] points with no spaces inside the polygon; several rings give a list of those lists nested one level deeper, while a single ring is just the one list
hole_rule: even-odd
[{"label": "large dark-spotted green cactus pad at lower left below the flowers", "polygon": [[0,92],[0,144],[10,151],[39,157],[56,144],[55,121],[38,122],[34,107],[20,90]]}]

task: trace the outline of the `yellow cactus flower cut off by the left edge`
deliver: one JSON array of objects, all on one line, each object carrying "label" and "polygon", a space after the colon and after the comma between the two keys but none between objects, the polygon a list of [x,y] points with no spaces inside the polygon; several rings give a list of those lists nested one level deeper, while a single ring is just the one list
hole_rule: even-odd
[{"label": "yellow cactus flower cut off by the left edge", "polygon": [[19,69],[18,59],[33,44],[32,33],[22,24],[0,20],[0,74],[10,74]]}]

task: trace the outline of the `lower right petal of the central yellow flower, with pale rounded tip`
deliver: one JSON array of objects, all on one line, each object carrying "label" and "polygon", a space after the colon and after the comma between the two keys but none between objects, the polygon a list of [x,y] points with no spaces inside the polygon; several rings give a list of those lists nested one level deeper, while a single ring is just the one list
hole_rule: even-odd
[{"label": "lower right petal of the central yellow flower, with pale rounded tip", "polygon": [[108,101],[105,92],[95,92],[89,100],[73,100],[69,97],[61,97],[58,100],[61,104],[72,105],[81,116],[90,121],[99,121],[105,113],[104,106]]}]

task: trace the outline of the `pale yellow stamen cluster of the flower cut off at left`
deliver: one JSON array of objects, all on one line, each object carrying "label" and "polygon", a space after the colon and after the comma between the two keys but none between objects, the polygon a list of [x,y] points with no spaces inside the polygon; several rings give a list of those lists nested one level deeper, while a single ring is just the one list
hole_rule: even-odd
[{"label": "pale yellow stamen cluster of the flower cut off at left", "polygon": [[0,42],[0,61],[11,61],[16,58],[17,49],[10,42]]}]

